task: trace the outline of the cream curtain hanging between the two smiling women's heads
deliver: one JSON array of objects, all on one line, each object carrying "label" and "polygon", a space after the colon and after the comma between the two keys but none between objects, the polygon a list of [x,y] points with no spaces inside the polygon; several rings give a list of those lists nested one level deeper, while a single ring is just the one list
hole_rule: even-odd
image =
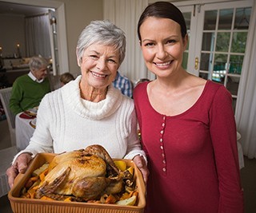
[{"label": "cream curtain hanging between the two smiling women's heads", "polygon": [[147,5],[148,0],[103,1],[104,19],[110,20],[126,33],[126,58],[119,72],[134,82],[150,75],[144,64],[137,36],[138,19]]}]

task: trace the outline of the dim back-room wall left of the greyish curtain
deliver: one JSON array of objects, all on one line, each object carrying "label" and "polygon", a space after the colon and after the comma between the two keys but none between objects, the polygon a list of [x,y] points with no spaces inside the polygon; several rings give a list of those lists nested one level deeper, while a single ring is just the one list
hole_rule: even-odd
[{"label": "dim back-room wall left of the greyish curtain", "polygon": [[4,57],[13,57],[17,44],[25,56],[25,20],[23,16],[0,14],[0,46]]}]

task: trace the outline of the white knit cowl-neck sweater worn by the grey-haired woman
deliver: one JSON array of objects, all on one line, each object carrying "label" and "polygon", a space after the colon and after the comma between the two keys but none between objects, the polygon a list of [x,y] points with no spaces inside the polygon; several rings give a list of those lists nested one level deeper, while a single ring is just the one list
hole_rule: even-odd
[{"label": "white knit cowl-neck sweater worn by the grey-haired woman", "polygon": [[80,81],[81,76],[46,94],[38,108],[34,135],[22,152],[34,156],[38,152],[70,152],[101,144],[113,158],[146,157],[138,141],[134,101],[112,85],[105,100],[83,100]]}]

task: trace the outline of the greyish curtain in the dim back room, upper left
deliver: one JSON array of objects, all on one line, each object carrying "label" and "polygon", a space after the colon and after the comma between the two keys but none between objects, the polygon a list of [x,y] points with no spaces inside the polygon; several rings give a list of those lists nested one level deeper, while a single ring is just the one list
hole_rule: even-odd
[{"label": "greyish curtain in the dim back room, upper left", "polygon": [[50,58],[48,15],[25,18],[26,56],[41,55]]}]

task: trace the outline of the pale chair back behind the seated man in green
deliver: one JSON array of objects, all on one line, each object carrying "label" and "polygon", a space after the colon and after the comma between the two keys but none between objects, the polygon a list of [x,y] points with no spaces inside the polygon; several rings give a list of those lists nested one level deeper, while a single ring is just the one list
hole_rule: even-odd
[{"label": "pale chair back behind the seated man in green", "polygon": [[13,112],[10,112],[9,102],[10,102],[10,95],[11,95],[12,87],[8,87],[5,89],[0,89],[0,99],[2,101],[3,109],[6,113],[6,119],[10,130],[10,139],[11,144],[16,145],[16,138],[15,138],[15,115]]}]

